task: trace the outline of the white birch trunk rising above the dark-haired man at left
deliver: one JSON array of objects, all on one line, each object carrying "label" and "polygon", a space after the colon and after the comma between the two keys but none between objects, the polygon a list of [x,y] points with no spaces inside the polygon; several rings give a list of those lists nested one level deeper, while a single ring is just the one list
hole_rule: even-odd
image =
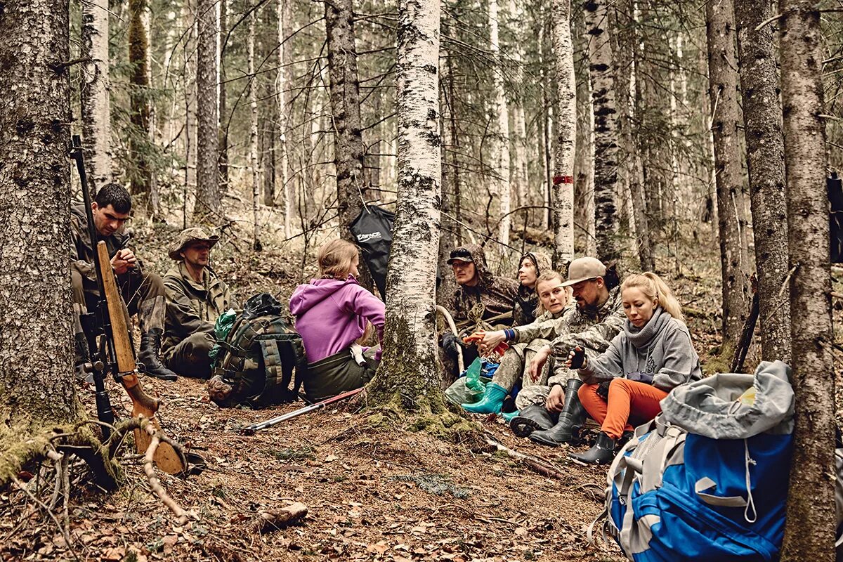
[{"label": "white birch trunk rising above the dark-haired man at left", "polygon": [[85,163],[92,193],[111,181],[111,104],[108,55],[108,10],[97,3],[82,4],[84,63],[79,87]]}]

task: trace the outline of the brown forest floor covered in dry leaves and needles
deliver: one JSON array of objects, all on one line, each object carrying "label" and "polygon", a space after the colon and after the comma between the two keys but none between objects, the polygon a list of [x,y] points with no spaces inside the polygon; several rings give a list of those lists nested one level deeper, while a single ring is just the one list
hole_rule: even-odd
[{"label": "brown forest floor covered in dry leaves and needles", "polygon": [[[140,230],[140,228],[138,228]],[[169,266],[164,248],[177,229],[146,228],[137,248],[146,266]],[[690,245],[690,244],[689,244]],[[298,247],[297,247],[298,246]],[[311,255],[313,250],[310,250]],[[718,343],[717,260],[693,267],[674,258],[669,270],[703,361]],[[215,249],[217,271],[234,287],[239,302],[268,291],[284,300],[302,270],[300,239],[260,254],[230,238]],[[677,265],[680,274],[676,275]],[[751,367],[751,365],[750,365]],[[99,490],[79,461],[72,467],[67,523],[33,506],[19,490],[0,490],[0,559],[3,560],[621,560],[614,542],[589,545],[586,529],[603,509],[606,468],[566,461],[567,447],[540,447],[514,437],[500,418],[475,416],[487,431],[519,452],[556,463],[565,474],[549,479],[518,460],[469,443],[445,442],[401,427],[373,427],[364,415],[328,409],[290,420],[253,436],[240,426],[266,420],[303,405],[275,409],[220,409],[207,399],[205,382],[180,378],[164,383],[146,378],[148,391],[163,400],[164,431],[207,461],[201,474],[162,474],[164,488],[193,514],[175,522],[150,490],[142,466],[126,457],[127,482],[112,494]],[[93,390],[79,388],[93,409]],[[131,403],[110,385],[122,416]],[[579,447],[581,449],[587,446]],[[49,497],[51,465],[32,469],[42,497]],[[308,507],[300,522],[260,534],[251,522],[260,511],[293,502]],[[61,505],[62,502],[60,501]],[[69,549],[61,528],[67,527]],[[599,533],[596,533],[599,536]]]}]

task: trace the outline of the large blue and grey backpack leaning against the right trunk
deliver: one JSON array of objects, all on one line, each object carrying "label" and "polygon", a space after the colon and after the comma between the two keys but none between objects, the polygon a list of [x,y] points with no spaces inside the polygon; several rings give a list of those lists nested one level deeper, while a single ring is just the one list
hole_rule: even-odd
[{"label": "large blue and grey backpack leaning against the right trunk", "polygon": [[609,468],[604,534],[634,562],[774,560],[793,390],[781,361],[675,388]]}]

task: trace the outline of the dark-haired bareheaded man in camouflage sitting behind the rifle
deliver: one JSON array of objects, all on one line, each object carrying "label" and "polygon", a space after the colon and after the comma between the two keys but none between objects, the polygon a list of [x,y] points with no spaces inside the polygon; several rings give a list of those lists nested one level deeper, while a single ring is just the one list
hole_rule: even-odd
[{"label": "dark-haired bareheaded man in camouflage sitting behind the rifle", "polygon": [[[175,373],[164,367],[158,356],[161,336],[164,334],[164,282],[154,273],[144,271],[141,261],[126,247],[129,235],[124,232],[124,225],[129,219],[130,211],[132,197],[122,185],[104,185],[94,195],[94,201],[91,201],[97,242],[105,242],[108,249],[111,267],[126,305],[126,319],[136,313],[139,319],[141,348],[137,360],[144,367],[146,374],[173,381]],[[76,313],[76,364],[78,375],[90,381],[92,379],[81,372],[83,364],[89,361],[89,352],[78,318],[79,315],[87,313],[89,306],[94,305],[99,298],[99,287],[94,265],[97,254],[94,244],[91,243],[88,215],[83,203],[71,207],[70,227],[70,275],[73,310]]]}]

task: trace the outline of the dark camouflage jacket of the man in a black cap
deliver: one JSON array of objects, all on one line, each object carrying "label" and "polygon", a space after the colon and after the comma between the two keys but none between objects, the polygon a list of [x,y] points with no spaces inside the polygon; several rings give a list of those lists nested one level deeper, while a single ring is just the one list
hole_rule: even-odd
[{"label": "dark camouflage jacket of the man in a black cap", "polygon": [[466,244],[474,259],[480,281],[475,286],[459,286],[450,298],[448,311],[454,316],[459,330],[473,330],[481,320],[486,321],[501,314],[508,318],[494,320],[493,324],[513,324],[512,312],[518,282],[491,275],[486,269],[486,255],[478,244]]}]

